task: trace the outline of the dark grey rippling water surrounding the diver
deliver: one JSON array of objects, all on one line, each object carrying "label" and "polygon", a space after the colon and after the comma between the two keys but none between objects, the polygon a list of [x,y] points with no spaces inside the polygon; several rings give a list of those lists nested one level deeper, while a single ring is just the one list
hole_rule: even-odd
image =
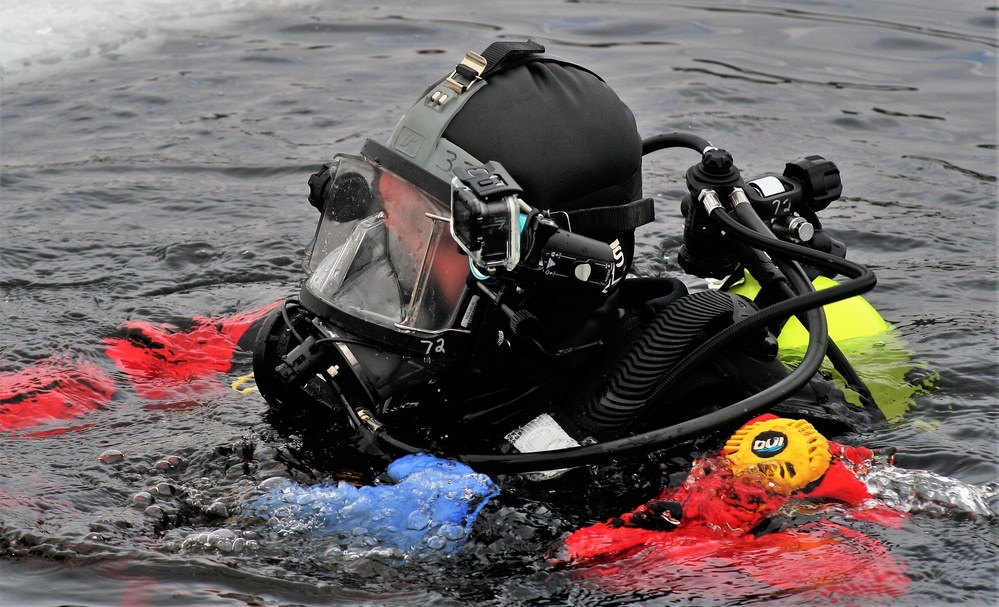
[{"label": "dark grey rippling water surrounding the diver", "polygon": [[[698,133],[749,176],[807,154],[834,160],[844,197],[824,224],[874,269],[868,299],[939,373],[897,420],[854,439],[897,446],[905,467],[997,480],[994,4],[482,6],[339,2],[166,23],[141,50],[6,75],[0,369],[52,353],[107,365],[99,340],[125,320],[220,317],[297,291],[316,219],[309,174],[366,137],[384,141],[466,50],[531,37],[603,76],[644,136]],[[639,232],[640,274],[676,270],[694,160],[647,159],[658,218]],[[47,429],[79,428],[0,437],[0,603],[671,604],[668,592],[618,596],[549,569],[546,552],[573,525],[512,497],[463,552],[401,568],[227,527],[225,507],[287,473],[288,439],[265,409],[227,388],[160,407],[119,391]],[[102,463],[111,449],[124,459]],[[188,496],[159,500],[188,513],[165,530],[133,504],[161,483]],[[227,528],[258,547],[185,547]],[[916,515],[873,533],[912,579],[897,604],[999,600],[994,519]],[[711,595],[711,576],[701,583]],[[807,604],[750,590],[714,602]]]}]

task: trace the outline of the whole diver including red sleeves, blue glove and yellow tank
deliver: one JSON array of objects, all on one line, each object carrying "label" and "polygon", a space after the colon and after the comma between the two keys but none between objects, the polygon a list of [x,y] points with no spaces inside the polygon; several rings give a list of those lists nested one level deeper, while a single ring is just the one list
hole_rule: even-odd
[{"label": "whole diver including red sleeves, blue glove and yellow tank", "polygon": [[[702,288],[631,275],[635,232],[657,210],[643,193],[643,157],[667,148],[695,160],[678,263]],[[316,461],[306,467],[366,467],[349,475],[357,479],[394,462],[391,483],[367,488],[265,480],[252,505],[262,516],[276,516],[275,505],[291,512],[284,504],[301,495],[333,504],[412,497],[406,479],[429,470],[451,475],[432,489],[455,479],[474,489],[474,499],[417,491],[430,496],[420,507],[453,507],[455,538],[498,486],[643,503],[590,528],[621,536],[602,550],[696,540],[724,517],[739,523],[729,525],[736,539],[751,538],[779,528],[795,500],[868,497],[859,476],[828,473],[862,463],[837,464],[836,443],[815,451],[825,467],[811,459],[824,437],[884,419],[830,338],[889,328],[859,297],[874,275],[848,261],[819,221],[842,192],[832,162],[807,156],[744,179],[731,154],[700,136],[643,139],[590,70],[532,41],[497,42],[432,84],[385,144],[337,155],[309,189],[320,217],[297,297],[184,326],[125,323],[102,345],[127,386],[96,361],[66,355],[0,372],[0,432],[44,435],[45,420],[82,416],[120,392],[186,406],[234,372],[243,373],[234,389],[258,388],[269,403],[270,427],[307,445],[300,453]],[[833,303],[847,312],[827,319]],[[800,354],[790,366],[789,350]],[[238,368],[250,352],[252,380]],[[821,369],[826,358],[839,383]],[[735,437],[750,452],[718,451]],[[807,448],[773,465],[795,440]],[[729,463],[719,466],[721,455]],[[746,462],[759,468],[750,480]],[[756,473],[774,470],[793,490],[761,501]],[[711,492],[674,482],[688,475]],[[731,499],[740,487],[749,509]],[[334,522],[322,519],[322,530]],[[672,539],[659,534],[680,523]],[[573,543],[591,531],[570,537],[577,558],[602,555]]]}]

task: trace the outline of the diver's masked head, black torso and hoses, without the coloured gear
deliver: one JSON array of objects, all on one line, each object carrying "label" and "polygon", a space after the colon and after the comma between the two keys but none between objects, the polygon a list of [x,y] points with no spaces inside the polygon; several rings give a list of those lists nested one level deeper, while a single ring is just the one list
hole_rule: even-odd
[{"label": "diver's masked head, black torso and hoses, without the coloured gear", "polygon": [[[655,213],[642,159],[671,147],[699,160],[680,265],[720,288],[629,276]],[[272,412],[299,428],[549,479],[761,413],[829,436],[881,415],[822,312],[875,284],[817,217],[842,191],[835,164],[747,181],[699,136],[643,140],[604,80],[533,41],[467,53],[385,144],[337,155],[309,186],[307,277],[253,351]],[[753,299],[735,292],[746,282]],[[789,369],[778,335],[796,316],[807,349]],[[826,356],[850,399],[817,372]]]}]

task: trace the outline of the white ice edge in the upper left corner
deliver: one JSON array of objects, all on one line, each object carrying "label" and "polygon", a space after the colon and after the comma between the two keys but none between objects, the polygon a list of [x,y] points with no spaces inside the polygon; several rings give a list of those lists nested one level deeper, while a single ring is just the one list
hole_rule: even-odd
[{"label": "white ice edge in the upper left corner", "polygon": [[32,77],[136,52],[164,28],[208,26],[295,0],[4,0],[0,74]]}]

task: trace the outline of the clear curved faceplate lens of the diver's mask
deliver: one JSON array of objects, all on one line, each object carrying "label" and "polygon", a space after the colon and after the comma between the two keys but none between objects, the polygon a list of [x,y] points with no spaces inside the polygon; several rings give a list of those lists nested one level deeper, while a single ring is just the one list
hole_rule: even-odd
[{"label": "clear curved faceplate lens of the diver's mask", "polygon": [[361,157],[338,157],[334,173],[306,288],[366,322],[450,328],[469,267],[451,236],[448,206]]}]

